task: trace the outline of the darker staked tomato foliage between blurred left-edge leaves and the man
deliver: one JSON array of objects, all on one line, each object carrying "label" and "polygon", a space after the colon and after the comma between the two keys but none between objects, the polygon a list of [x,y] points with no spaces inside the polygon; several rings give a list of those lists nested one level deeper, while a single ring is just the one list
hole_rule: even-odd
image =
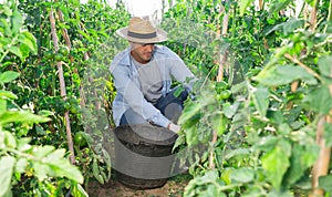
[{"label": "darker staked tomato foliage between blurred left-edge leaves and the man", "polygon": [[[55,11],[59,50],[54,49],[50,33],[51,8]],[[83,172],[85,186],[91,177],[101,184],[110,180],[111,156],[102,146],[102,133],[110,132],[108,123],[112,120],[107,120],[112,114],[105,108],[114,96],[107,65],[118,51],[113,33],[125,25],[127,12],[121,4],[112,9],[97,1],[81,4],[79,0],[20,1],[19,9],[24,12],[27,25],[37,38],[38,50],[35,55],[17,65],[24,74],[10,89],[17,92],[19,104],[30,103],[35,112],[52,112],[52,122],[37,125],[27,135],[32,137],[34,144],[66,148],[63,116],[69,111],[72,138],[82,134],[81,141],[87,143],[74,143],[76,165]],[[61,14],[63,20],[60,19]],[[70,45],[65,42],[64,30],[70,38]],[[118,43],[121,49],[122,44]],[[66,100],[60,94],[56,61],[62,61],[64,65]],[[108,84],[107,89],[105,84]]]}]

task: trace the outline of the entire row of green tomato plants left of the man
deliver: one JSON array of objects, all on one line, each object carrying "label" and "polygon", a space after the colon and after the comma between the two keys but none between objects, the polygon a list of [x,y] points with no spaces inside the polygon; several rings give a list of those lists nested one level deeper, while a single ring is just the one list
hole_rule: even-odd
[{"label": "entire row of green tomato plants left of the man", "polygon": [[98,1],[0,6],[0,196],[87,196],[91,177],[111,178],[107,65],[129,15]]}]

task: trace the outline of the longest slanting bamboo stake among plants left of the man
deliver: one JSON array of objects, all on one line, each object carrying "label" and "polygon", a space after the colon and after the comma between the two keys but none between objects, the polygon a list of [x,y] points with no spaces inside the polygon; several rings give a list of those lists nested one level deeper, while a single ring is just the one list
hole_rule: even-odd
[{"label": "longest slanting bamboo stake among plants left of the man", "polygon": [[[51,33],[53,38],[53,45],[55,51],[59,49],[58,44],[58,35],[56,35],[56,29],[55,29],[55,19],[53,15],[53,9],[51,8],[51,13],[50,13],[50,23],[51,23]],[[62,98],[65,101],[66,100],[66,92],[65,92],[65,82],[63,77],[63,69],[62,69],[62,62],[59,61],[56,62],[58,65],[58,73],[59,73],[59,81],[60,81],[60,94]],[[69,117],[69,112],[66,111],[64,113],[64,118],[65,118],[65,131],[66,131],[66,139],[68,139],[68,146],[70,153],[70,160],[71,164],[75,164],[75,156],[74,156],[74,146],[73,146],[73,141],[72,141],[72,132],[71,132],[71,122]]]}]

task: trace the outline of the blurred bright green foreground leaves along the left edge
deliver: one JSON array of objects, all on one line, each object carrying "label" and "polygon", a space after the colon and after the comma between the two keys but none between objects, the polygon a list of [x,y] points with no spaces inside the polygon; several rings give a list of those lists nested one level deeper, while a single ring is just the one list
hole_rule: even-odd
[{"label": "blurred bright green foreground leaves along the left edge", "polygon": [[[0,56],[1,71],[4,71],[6,66],[12,64],[11,60],[6,59],[8,55],[15,55],[24,61],[30,51],[37,51],[37,44],[34,37],[24,29],[23,18],[13,1],[1,4],[1,11]],[[31,145],[31,138],[21,137],[33,123],[49,122],[50,118],[34,115],[14,103],[18,96],[6,89],[19,75],[14,71],[0,74],[0,196],[20,195],[12,188],[21,187],[21,183],[28,178],[32,179],[30,186],[33,189],[27,190],[24,195],[63,195],[70,186],[81,187],[79,184],[83,183],[83,176],[70,164],[65,149]]]}]

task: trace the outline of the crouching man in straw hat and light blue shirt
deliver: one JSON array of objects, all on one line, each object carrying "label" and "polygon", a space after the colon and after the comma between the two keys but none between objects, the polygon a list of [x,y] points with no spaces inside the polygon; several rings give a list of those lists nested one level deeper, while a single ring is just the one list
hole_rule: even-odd
[{"label": "crouching man in straw hat and light blue shirt", "polygon": [[[173,77],[180,82],[195,79],[180,58],[166,46],[156,43],[167,40],[164,30],[147,20],[132,18],[129,25],[116,33],[129,42],[129,46],[118,53],[110,71],[114,77],[117,95],[113,102],[115,124],[152,123],[178,132],[176,124],[188,96],[190,84],[175,96]],[[193,81],[191,81],[193,83]]]}]

